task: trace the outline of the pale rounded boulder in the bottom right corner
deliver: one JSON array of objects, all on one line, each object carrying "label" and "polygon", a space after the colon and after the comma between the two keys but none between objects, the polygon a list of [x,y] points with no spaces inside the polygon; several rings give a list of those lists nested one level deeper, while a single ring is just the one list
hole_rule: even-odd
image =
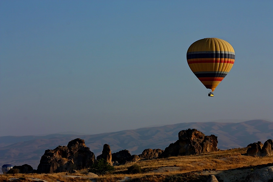
[{"label": "pale rounded boulder in the bottom right corner", "polygon": [[254,170],[245,178],[245,182],[268,182],[273,179],[273,166]]}]

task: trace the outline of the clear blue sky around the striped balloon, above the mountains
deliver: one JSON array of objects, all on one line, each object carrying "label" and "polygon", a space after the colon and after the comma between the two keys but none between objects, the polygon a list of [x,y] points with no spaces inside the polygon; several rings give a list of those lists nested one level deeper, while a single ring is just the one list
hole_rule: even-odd
[{"label": "clear blue sky around the striped balloon, above the mountains", "polygon": [[[0,1],[0,136],[273,120],[273,1]],[[214,91],[195,41],[235,50]]]}]

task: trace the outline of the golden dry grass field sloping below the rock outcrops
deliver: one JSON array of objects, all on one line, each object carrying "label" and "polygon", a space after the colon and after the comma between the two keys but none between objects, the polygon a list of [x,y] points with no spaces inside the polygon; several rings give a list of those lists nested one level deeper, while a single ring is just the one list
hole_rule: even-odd
[{"label": "golden dry grass field sloping below the rock outcrops", "polygon": [[[165,159],[141,160],[136,163],[115,166],[111,174],[100,175],[91,179],[85,175],[86,170],[78,171],[77,176],[66,176],[66,173],[54,174],[5,174],[0,175],[0,181],[25,182],[40,180],[44,182],[72,182],[72,181],[206,181],[207,175],[221,171],[244,167],[248,173],[255,170],[255,166],[273,163],[271,157],[245,156],[247,148],[224,150],[191,156],[169,157]],[[140,174],[126,174],[126,170],[133,164],[141,166]],[[228,173],[227,173],[228,174]],[[73,175],[73,174],[71,174]],[[15,179],[13,179],[15,178]],[[229,181],[229,180],[222,180]],[[243,181],[243,180],[242,180]]]}]

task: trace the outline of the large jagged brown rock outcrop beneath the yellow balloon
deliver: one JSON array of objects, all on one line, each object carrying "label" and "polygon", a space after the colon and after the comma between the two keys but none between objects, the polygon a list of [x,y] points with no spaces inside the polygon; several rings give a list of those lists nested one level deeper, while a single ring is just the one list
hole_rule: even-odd
[{"label": "large jagged brown rock outcrop beneath the yellow balloon", "polygon": [[178,133],[178,140],[171,143],[159,157],[215,152],[217,151],[217,143],[217,136],[215,135],[205,136],[204,133],[196,129],[182,130]]}]

